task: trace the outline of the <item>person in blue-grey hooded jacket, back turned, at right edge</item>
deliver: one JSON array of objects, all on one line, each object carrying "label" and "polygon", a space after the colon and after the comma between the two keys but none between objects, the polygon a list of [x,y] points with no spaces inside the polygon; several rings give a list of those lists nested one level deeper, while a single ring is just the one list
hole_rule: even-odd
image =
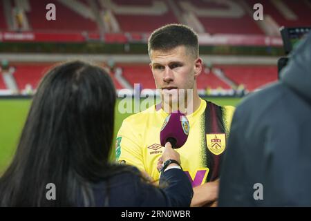
[{"label": "person in blue-grey hooded jacket, back turned, at right edge", "polygon": [[234,114],[219,206],[311,206],[311,35]]}]

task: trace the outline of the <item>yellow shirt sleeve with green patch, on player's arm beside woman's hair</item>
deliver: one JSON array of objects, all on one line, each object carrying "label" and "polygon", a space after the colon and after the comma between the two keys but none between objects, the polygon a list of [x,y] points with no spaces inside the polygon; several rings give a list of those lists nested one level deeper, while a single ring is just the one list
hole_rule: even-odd
[{"label": "yellow shirt sleeve with green patch, on player's arm beside woman's hair", "polygon": [[146,171],[142,155],[142,135],[135,130],[135,124],[128,118],[124,119],[117,133],[115,157],[117,162],[133,165],[140,171]]}]

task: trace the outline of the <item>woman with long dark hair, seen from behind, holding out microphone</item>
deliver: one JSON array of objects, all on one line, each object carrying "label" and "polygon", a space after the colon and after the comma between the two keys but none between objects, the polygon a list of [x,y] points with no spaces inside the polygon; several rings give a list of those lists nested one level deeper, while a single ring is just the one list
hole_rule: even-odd
[{"label": "woman with long dark hair, seen from behind, holding out microphone", "polygon": [[[0,178],[0,206],[189,206],[192,188],[177,164],[158,188],[132,166],[109,163],[115,88],[100,67],[56,66],[32,101],[17,152]],[[169,144],[162,160],[179,155]],[[47,197],[55,184],[55,199]]]}]

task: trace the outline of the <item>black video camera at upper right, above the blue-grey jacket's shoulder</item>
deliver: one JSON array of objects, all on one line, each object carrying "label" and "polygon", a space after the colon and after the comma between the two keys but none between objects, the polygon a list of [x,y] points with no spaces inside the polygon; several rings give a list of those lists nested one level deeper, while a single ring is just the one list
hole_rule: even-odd
[{"label": "black video camera at upper right, above the blue-grey jacket's shoulder", "polygon": [[289,27],[281,27],[281,37],[283,40],[283,47],[285,51],[285,55],[287,57],[281,57],[278,60],[278,77],[280,78],[281,70],[288,64],[288,61],[290,60],[290,52],[293,50],[293,48],[296,47],[296,44],[301,41],[303,36],[305,34],[308,34],[310,32],[311,27],[296,27],[296,28],[289,28]]}]

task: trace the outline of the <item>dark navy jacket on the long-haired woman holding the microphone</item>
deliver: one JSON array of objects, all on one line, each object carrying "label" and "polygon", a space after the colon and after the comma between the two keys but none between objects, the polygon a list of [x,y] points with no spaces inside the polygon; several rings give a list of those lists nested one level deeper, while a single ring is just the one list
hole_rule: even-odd
[{"label": "dark navy jacket on the long-haired woman holding the microphone", "polygon": [[158,188],[142,180],[138,169],[133,167],[113,176],[109,182],[93,187],[96,206],[113,207],[166,207],[190,206],[193,190],[189,178],[180,169],[169,169],[160,176]]}]

